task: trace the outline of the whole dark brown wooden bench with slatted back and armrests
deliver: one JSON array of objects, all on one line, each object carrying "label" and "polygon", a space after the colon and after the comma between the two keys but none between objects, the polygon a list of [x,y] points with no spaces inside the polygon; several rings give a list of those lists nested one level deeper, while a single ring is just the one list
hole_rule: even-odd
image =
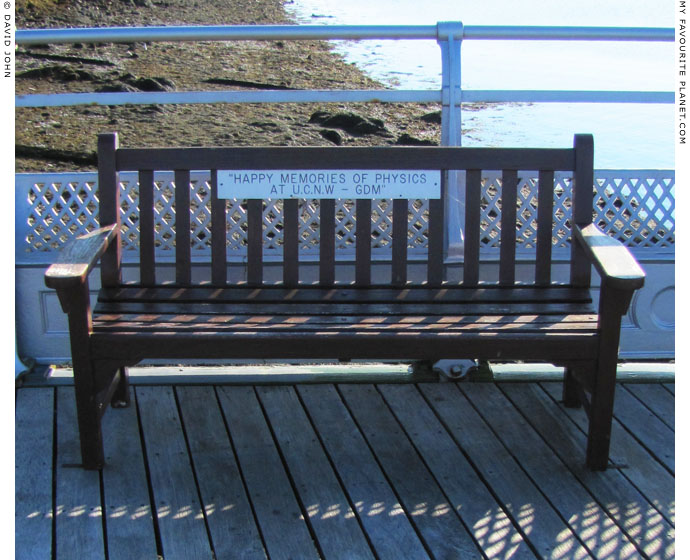
[{"label": "whole dark brown wooden bench with slatted back and armrests", "polygon": [[[144,359],[525,360],[565,367],[564,401],[586,405],[586,462],[605,469],[621,318],[644,273],[628,250],[592,223],[593,142],[572,149],[460,147],[121,149],[98,139],[100,227],[75,239],[45,281],[68,314],[83,466],[104,464],[101,417],[129,403],[127,367]],[[389,169],[466,171],[464,264],[446,280],[444,202],[429,200],[426,278],[408,281],[408,201],[395,199],[390,276],[372,282],[370,199],[356,201],[354,282],[340,282],[335,201],[321,200],[318,281],[300,281],[298,200],[283,201],[282,281],[264,280],[264,201],[246,202],[246,278],[228,281],[227,201],[219,170]],[[154,172],[175,177],[175,281],[157,278]],[[192,282],[190,171],[211,173],[211,278]],[[482,170],[501,170],[501,245],[496,282],[480,281]],[[516,281],[518,172],[538,170],[536,268]],[[552,281],[554,172],[574,173],[569,281]],[[123,283],[120,171],[139,177],[140,280]],[[445,190],[445,179],[441,189]],[[362,242],[363,240],[363,242]],[[100,258],[93,311],[88,275]],[[598,307],[592,265],[601,277]],[[351,266],[351,265],[350,265]],[[303,279],[302,279],[303,280]],[[469,428],[471,429],[471,428]]]}]

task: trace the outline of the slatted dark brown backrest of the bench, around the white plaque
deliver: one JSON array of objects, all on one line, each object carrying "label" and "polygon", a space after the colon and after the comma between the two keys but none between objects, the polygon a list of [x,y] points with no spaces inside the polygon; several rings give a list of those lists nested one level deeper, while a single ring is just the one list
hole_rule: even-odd
[{"label": "slatted dark brown backrest of the bench, around the white plaque", "polygon": [[[538,171],[536,273],[534,283],[551,282],[554,173],[572,171],[572,221],[582,227],[592,222],[593,141],[576,135],[572,149],[464,148],[464,147],[229,147],[229,148],[137,148],[118,147],[117,135],[98,138],[99,219],[102,226],[120,223],[118,172],[139,175],[140,278],[144,286],[156,284],[154,237],[154,172],[174,171],[176,283],[191,285],[190,172],[209,170],[211,183],[211,281],[225,285],[227,278],[226,200],[218,196],[219,170],[290,169],[391,169],[465,171],[465,231],[462,284],[479,282],[480,204],[483,170],[502,172],[501,240],[499,284],[515,283],[516,214],[519,171]],[[428,258],[426,283],[444,282],[444,198],[429,200]],[[264,283],[262,199],[246,201],[247,283]],[[408,200],[394,199],[390,284],[407,283]],[[319,284],[336,281],[335,200],[319,205]],[[355,285],[371,284],[371,199],[356,200]],[[283,279],[297,286],[299,277],[298,200],[283,200]],[[364,242],[362,242],[364,240]],[[587,286],[590,265],[586,256],[571,245],[570,283]],[[121,283],[121,244],[114,243],[101,263],[103,286]]]}]

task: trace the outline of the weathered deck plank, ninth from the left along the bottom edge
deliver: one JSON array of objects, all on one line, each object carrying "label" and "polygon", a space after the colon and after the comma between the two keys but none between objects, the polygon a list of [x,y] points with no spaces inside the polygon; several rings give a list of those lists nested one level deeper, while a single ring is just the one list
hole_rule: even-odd
[{"label": "weathered deck plank, ninth from the left along the bottom edge", "polygon": [[431,555],[481,558],[471,535],[376,388],[340,385],[339,391]]}]

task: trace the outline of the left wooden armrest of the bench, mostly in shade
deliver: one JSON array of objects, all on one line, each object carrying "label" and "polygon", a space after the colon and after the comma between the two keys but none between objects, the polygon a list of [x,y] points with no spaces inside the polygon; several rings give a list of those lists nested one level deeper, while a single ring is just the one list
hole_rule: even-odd
[{"label": "left wooden armrest of the bench, mostly in shade", "polygon": [[83,284],[98,258],[117,237],[117,228],[112,224],[75,237],[46,271],[46,286],[60,289]]}]

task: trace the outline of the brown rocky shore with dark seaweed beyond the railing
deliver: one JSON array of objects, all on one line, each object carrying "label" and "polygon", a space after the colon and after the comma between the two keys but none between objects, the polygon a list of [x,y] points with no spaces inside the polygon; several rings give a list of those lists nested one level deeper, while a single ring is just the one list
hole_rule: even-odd
[{"label": "brown rocky shore with dark seaweed beyond the railing", "polygon": [[[18,29],[289,24],[282,0],[20,0]],[[16,92],[380,89],[321,41],[21,47]],[[440,107],[213,104],[18,108],[16,171],[95,169],[96,135],[124,146],[437,144]]]}]

